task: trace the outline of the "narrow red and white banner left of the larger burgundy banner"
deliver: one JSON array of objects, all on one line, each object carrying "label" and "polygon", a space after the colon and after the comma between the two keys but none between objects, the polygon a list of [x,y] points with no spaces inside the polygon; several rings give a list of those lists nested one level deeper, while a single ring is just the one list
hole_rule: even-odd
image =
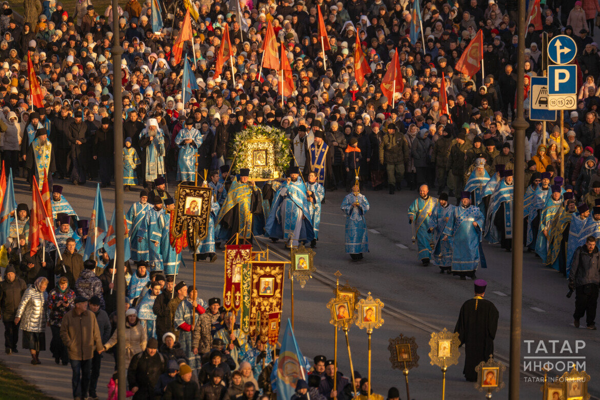
[{"label": "narrow red and white banner left of the larger burgundy banner", "polygon": [[223,285],[223,307],[238,311],[242,306],[242,274],[248,268],[252,245],[225,246],[225,280]]}]

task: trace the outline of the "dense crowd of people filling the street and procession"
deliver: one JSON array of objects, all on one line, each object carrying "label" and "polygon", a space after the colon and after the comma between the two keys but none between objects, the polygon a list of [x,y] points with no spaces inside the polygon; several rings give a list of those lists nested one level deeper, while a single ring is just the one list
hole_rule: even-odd
[{"label": "dense crowd of people filling the street and procession", "polygon": [[[507,251],[514,245],[511,122],[517,91],[524,91],[528,116],[530,77],[542,74],[544,32],[574,38],[580,90],[577,109],[560,111],[564,139],[556,121],[531,121],[527,129],[523,245],[568,276],[578,299],[575,326],[587,312],[587,327],[595,329],[600,276],[587,273],[593,266],[581,267],[581,254],[595,254],[586,246],[600,236],[598,2],[548,2],[524,38],[517,35],[516,0],[419,5],[199,0],[186,9],[170,0],[128,0],[113,15],[110,5],[98,10],[92,0],[73,9],[26,0],[18,16],[2,3],[2,161],[15,178],[30,184],[36,178],[40,189],[47,176],[58,241],[58,248],[31,255],[30,207],[19,204],[0,284],[6,352],[18,351],[21,330],[31,363],[40,363],[48,323],[56,363],[71,363],[74,398],[98,397],[101,353],[119,345],[127,349],[134,398],[272,395],[273,349],[245,336],[220,299],[202,300],[177,279],[181,254],[169,243],[174,201],[167,176],[191,182],[203,170],[214,197],[209,234],[196,243],[200,260],[217,260],[217,249],[234,235],[316,247],[321,204],[339,187],[350,192],[341,204],[345,251],[359,261],[368,252],[365,193],[404,188],[419,195],[408,212],[418,259],[475,279],[485,264],[483,239]],[[180,60],[175,42],[187,30],[187,13],[192,38]],[[281,71],[263,68],[271,29],[286,49],[280,58],[292,68],[291,95],[282,95]],[[467,76],[455,67],[479,31],[481,73]],[[226,36],[231,56],[224,61]],[[112,64],[115,40],[125,50],[121,65]],[[519,40],[526,43],[525,71],[516,71]],[[388,98],[382,80],[395,57],[403,89]],[[190,86],[197,85],[191,95],[182,86],[187,64]],[[118,94],[115,68],[123,73]],[[526,74],[524,88],[517,88],[517,73]],[[40,83],[41,106],[32,106],[29,76]],[[115,96],[122,99],[120,116]],[[113,179],[115,118],[124,120],[122,154],[116,154],[124,159],[123,182]],[[256,126],[280,128],[289,139],[293,163],[283,181],[259,184],[235,165],[236,134]],[[141,188],[126,215],[131,260],[125,266],[115,266],[106,251],[84,260],[89,222],[62,196],[61,184],[96,179],[103,188]],[[437,198],[430,195],[436,188]],[[189,212],[198,210],[190,204]],[[116,341],[115,267],[124,267],[127,279],[126,344]],[[316,357],[313,369],[298,385],[299,400],[307,393],[351,398],[355,389],[366,395],[364,378],[347,382],[326,357]],[[338,393],[332,393],[334,378]],[[115,377],[111,398],[117,384]],[[388,393],[398,397],[397,390]]]}]

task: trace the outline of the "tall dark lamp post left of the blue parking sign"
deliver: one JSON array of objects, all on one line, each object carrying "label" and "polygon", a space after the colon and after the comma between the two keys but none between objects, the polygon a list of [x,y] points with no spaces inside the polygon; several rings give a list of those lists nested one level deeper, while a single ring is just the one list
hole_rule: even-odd
[{"label": "tall dark lamp post left of the blue parking sign", "polygon": [[517,119],[515,128],[515,170],[513,197],[512,282],[511,282],[511,348],[509,362],[509,399],[519,398],[521,362],[521,308],[523,302],[523,198],[525,192],[525,130],[529,126],[523,116],[525,71],[525,2],[518,2]]}]

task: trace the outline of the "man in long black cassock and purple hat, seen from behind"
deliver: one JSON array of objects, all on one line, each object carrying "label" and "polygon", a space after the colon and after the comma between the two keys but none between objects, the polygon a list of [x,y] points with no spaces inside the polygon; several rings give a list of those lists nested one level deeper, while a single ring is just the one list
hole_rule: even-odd
[{"label": "man in long black cassock and purple hat, seen from behind", "polygon": [[475,297],[460,308],[454,332],[458,332],[460,345],[464,344],[463,374],[467,381],[475,382],[475,367],[494,354],[494,338],[498,328],[498,310],[489,300],[484,300],[487,282],[475,281]]}]

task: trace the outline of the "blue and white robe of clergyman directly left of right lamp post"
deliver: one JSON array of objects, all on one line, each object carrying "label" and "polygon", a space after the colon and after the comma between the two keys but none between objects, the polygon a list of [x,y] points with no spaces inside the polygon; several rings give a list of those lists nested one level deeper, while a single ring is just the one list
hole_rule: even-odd
[{"label": "blue and white robe of clergyman directly left of right lamp post", "polygon": [[[507,184],[504,179],[497,185],[496,190],[490,197],[490,204],[485,217],[484,238],[490,244],[496,245],[502,239],[512,238],[512,197],[514,196],[514,184]],[[500,211],[500,207],[504,204],[504,234],[505,237],[500,237],[500,231],[494,224],[496,213]]]}]

